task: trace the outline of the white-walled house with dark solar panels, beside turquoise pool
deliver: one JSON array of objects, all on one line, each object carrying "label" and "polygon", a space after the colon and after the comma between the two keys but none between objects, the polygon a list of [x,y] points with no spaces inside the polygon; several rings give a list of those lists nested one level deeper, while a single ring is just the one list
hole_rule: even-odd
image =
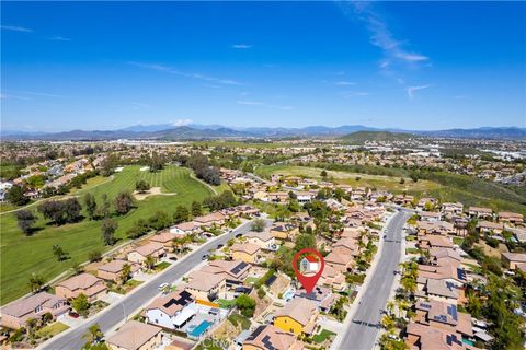
[{"label": "white-walled house with dark solar panels, beside turquoise pool", "polygon": [[185,307],[194,302],[194,296],[179,290],[155,299],[145,308],[148,323],[169,329],[181,329],[194,316],[195,311]]}]

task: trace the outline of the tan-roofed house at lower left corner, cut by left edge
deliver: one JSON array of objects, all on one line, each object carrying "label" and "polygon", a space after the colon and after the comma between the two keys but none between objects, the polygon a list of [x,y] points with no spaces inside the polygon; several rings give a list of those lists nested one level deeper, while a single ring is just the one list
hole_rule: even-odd
[{"label": "tan-roofed house at lower left corner, cut by left edge", "polygon": [[27,298],[19,299],[0,310],[2,318],[0,325],[12,329],[25,327],[30,318],[38,319],[44,314],[52,314],[56,319],[58,316],[69,311],[66,298],[39,292]]}]

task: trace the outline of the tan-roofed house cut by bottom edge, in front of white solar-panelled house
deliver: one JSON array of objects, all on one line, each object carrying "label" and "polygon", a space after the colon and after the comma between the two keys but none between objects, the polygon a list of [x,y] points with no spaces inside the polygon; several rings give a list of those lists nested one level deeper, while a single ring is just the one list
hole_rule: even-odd
[{"label": "tan-roofed house cut by bottom edge, in front of white solar-panelled house", "polygon": [[153,350],[162,343],[161,330],[138,320],[128,320],[106,339],[106,346],[111,350]]}]

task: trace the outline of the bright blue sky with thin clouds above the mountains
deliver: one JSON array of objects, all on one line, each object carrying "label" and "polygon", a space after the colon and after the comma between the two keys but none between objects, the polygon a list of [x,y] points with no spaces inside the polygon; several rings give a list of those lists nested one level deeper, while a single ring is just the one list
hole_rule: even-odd
[{"label": "bright blue sky with thin clouds above the mountains", "polygon": [[525,2],[2,2],[2,128],[526,125]]}]

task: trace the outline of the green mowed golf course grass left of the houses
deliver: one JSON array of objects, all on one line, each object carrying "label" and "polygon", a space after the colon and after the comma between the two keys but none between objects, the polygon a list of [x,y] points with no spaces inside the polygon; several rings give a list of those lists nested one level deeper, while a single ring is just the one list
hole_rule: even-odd
[{"label": "green mowed golf course grass left of the houses", "polygon": [[[126,231],[138,219],[147,219],[158,210],[164,210],[171,214],[178,205],[190,206],[193,200],[203,200],[213,195],[207,186],[190,175],[187,168],[178,166],[168,166],[158,173],[140,172],[139,166],[126,166],[122,173],[115,174],[113,179],[106,178],[107,182],[100,183],[99,186],[90,186],[87,190],[79,190],[78,195],[90,191],[101,201],[102,195],[106,194],[110,200],[113,200],[122,190],[133,191],[137,179],[145,179],[151,186],[160,187],[163,192],[176,194],[148,197],[137,201],[137,208],[126,215],[116,217],[118,229],[115,235],[119,240],[125,240]],[[31,209],[35,210],[36,206]],[[50,280],[69,269],[73,261],[85,261],[89,253],[111,248],[102,243],[101,224],[102,221],[83,220],[73,224],[52,226],[39,218],[35,224],[37,231],[32,236],[25,236],[18,228],[13,213],[2,214],[0,217],[1,304],[30,291],[27,280],[32,272],[39,272],[46,280]],[[54,244],[60,245],[69,254],[70,259],[57,261],[52,253]]]}]

